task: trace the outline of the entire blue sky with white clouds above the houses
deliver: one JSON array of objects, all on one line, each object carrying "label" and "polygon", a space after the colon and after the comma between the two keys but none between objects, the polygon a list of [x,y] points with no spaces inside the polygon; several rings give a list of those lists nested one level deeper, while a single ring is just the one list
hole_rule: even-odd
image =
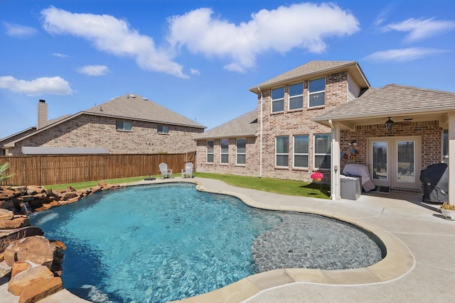
[{"label": "entire blue sky with white clouds above the houses", "polygon": [[248,89],[311,60],[358,61],[372,87],[455,92],[455,2],[0,0],[0,138],[140,94],[208,129]]}]

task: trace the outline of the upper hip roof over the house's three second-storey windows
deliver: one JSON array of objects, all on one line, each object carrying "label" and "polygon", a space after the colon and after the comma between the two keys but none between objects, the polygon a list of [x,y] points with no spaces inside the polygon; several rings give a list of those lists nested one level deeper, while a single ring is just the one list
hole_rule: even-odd
[{"label": "upper hip roof over the house's three second-storey windows", "polygon": [[312,77],[318,77],[322,75],[327,75],[328,73],[338,72],[341,70],[348,70],[351,77],[355,79],[355,82],[359,84],[360,87],[370,87],[370,83],[363,74],[363,71],[360,69],[358,62],[356,61],[320,61],[314,60],[310,61],[304,65],[294,68],[294,70],[289,70],[284,72],[277,77],[268,79],[265,82],[255,85],[255,87],[250,88],[250,92],[259,93],[257,87],[269,88],[274,87],[279,84],[284,84],[284,82],[291,82],[293,80],[297,81],[299,79],[308,79]]}]

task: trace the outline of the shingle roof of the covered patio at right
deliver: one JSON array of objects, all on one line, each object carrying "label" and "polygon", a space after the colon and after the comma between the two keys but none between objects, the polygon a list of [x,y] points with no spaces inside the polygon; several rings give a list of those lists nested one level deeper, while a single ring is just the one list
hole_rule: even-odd
[{"label": "shingle roof of the covered patio at right", "polygon": [[455,110],[455,93],[388,84],[336,107],[312,121]]}]

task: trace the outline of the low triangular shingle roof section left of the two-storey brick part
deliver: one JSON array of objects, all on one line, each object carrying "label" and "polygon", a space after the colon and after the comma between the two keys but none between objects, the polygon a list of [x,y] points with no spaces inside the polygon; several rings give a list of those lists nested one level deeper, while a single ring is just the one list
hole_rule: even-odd
[{"label": "low triangular shingle roof section left of the two-storey brick part", "polygon": [[198,139],[235,138],[257,136],[257,109],[194,137]]}]

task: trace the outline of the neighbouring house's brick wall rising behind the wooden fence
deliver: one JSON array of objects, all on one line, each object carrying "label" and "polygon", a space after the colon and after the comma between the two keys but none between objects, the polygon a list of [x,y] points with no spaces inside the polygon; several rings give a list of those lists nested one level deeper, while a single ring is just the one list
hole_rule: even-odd
[{"label": "neighbouring house's brick wall rising behind the wooden fence", "polygon": [[117,131],[116,119],[80,115],[16,143],[9,150],[21,155],[22,146],[106,148],[109,153],[186,153],[196,149],[192,139],[201,128],[169,126],[159,134],[156,123],[132,121],[132,131]]}]

